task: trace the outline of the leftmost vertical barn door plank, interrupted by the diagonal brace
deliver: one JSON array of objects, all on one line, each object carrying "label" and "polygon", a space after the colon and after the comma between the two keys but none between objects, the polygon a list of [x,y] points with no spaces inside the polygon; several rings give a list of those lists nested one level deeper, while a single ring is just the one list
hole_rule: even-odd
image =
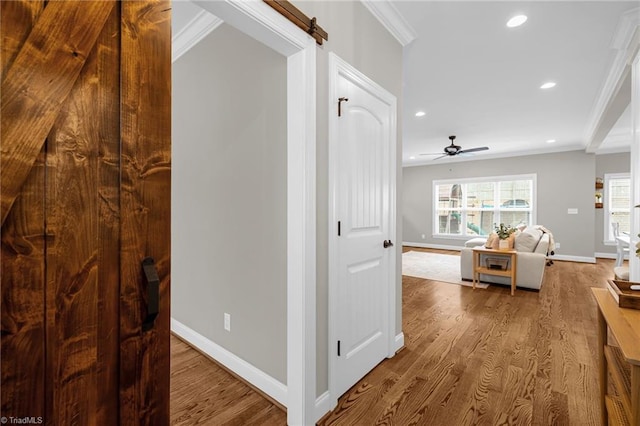
[{"label": "leftmost vertical barn door plank, interrupted by the diagonal brace", "polygon": [[[3,75],[24,43],[43,2],[0,2]],[[45,414],[44,182],[41,150],[0,231],[0,413]]]}]

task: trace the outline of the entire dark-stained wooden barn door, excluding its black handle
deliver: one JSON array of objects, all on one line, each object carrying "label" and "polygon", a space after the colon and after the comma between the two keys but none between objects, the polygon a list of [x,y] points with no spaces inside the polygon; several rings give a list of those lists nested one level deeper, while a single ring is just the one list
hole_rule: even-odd
[{"label": "entire dark-stained wooden barn door, excluding its black handle", "polygon": [[169,422],[170,8],[0,2],[8,422]]}]

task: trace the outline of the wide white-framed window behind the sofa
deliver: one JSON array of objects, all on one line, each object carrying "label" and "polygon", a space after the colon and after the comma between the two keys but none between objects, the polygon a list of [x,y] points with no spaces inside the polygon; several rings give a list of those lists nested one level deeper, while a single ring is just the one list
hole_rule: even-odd
[{"label": "wide white-framed window behind the sofa", "polygon": [[499,223],[535,223],[536,175],[433,182],[434,236],[489,235]]}]

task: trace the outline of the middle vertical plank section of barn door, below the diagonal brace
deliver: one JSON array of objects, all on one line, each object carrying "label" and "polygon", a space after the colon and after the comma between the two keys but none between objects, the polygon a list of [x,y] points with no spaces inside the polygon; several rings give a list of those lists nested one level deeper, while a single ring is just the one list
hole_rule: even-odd
[{"label": "middle vertical plank section of barn door, below the diagonal brace", "polygon": [[47,137],[47,415],[117,424],[119,37],[114,8]]}]

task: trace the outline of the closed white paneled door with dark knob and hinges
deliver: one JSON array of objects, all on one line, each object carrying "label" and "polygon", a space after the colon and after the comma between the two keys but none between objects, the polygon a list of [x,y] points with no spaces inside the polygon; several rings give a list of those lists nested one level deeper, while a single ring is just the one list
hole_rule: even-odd
[{"label": "closed white paneled door with dark knob and hinges", "polygon": [[344,75],[337,134],[338,308],[336,393],[344,393],[388,354],[391,231],[391,106]]}]

